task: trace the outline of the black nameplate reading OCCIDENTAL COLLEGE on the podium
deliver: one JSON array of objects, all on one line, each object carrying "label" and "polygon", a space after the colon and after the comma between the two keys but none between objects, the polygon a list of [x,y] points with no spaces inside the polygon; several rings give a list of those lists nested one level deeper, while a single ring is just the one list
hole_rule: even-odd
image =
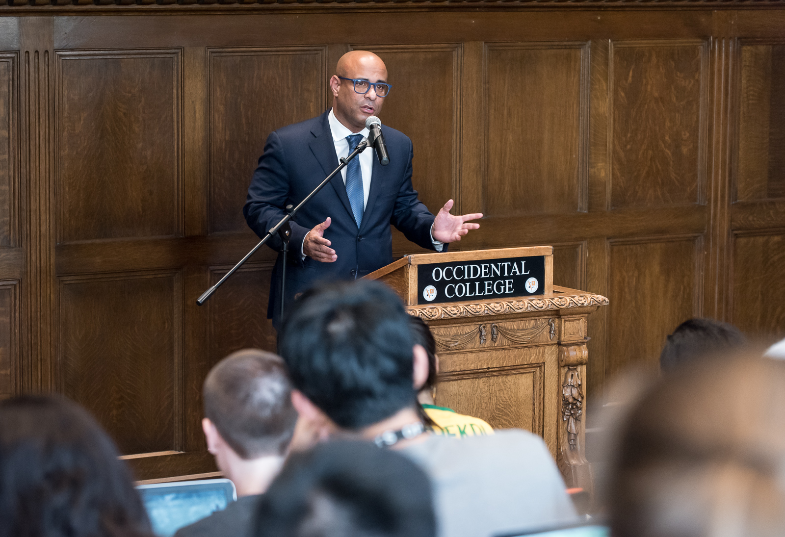
[{"label": "black nameplate reading OCCIDENTAL COLLEGE on the podium", "polygon": [[527,297],[544,287],[544,255],[417,265],[418,305]]}]

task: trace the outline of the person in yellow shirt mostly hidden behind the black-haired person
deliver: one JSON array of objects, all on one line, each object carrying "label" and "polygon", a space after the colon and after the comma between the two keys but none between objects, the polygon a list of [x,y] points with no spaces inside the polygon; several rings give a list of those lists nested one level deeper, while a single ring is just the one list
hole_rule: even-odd
[{"label": "person in yellow shirt mostly hidden behind the black-haired person", "polygon": [[[415,345],[422,345],[428,354],[428,378],[419,387],[417,400],[422,408],[421,417],[433,432],[444,437],[463,438],[476,437],[482,434],[493,434],[493,428],[480,418],[458,414],[451,408],[437,407],[433,401],[436,380],[439,376],[439,356],[436,355],[436,340],[431,329],[420,317],[409,316],[411,333]],[[416,386],[415,386],[416,387]]]}]

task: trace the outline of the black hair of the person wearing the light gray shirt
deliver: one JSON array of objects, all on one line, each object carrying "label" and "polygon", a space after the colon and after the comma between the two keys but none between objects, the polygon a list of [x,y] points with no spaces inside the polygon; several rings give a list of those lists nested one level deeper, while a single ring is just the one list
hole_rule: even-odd
[{"label": "black hair of the person wearing the light gray shirt", "polygon": [[331,283],[290,312],[279,353],[296,389],[338,426],[361,429],[416,401],[409,322],[383,283]]}]

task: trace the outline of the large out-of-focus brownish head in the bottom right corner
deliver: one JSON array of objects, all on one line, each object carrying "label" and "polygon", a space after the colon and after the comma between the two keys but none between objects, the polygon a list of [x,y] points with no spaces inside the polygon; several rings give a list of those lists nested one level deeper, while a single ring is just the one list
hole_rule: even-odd
[{"label": "large out-of-focus brownish head in the bottom right corner", "polygon": [[615,537],[785,534],[785,363],[712,358],[630,405],[608,484]]}]

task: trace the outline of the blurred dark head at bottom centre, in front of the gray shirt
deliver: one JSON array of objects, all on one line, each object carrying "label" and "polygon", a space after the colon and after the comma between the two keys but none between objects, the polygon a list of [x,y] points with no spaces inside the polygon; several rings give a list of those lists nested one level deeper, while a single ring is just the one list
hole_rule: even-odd
[{"label": "blurred dark head at bottom centre, in front of the gray shirt", "polygon": [[395,451],[329,442],[294,454],[261,501],[257,537],[433,537],[429,480]]}]

